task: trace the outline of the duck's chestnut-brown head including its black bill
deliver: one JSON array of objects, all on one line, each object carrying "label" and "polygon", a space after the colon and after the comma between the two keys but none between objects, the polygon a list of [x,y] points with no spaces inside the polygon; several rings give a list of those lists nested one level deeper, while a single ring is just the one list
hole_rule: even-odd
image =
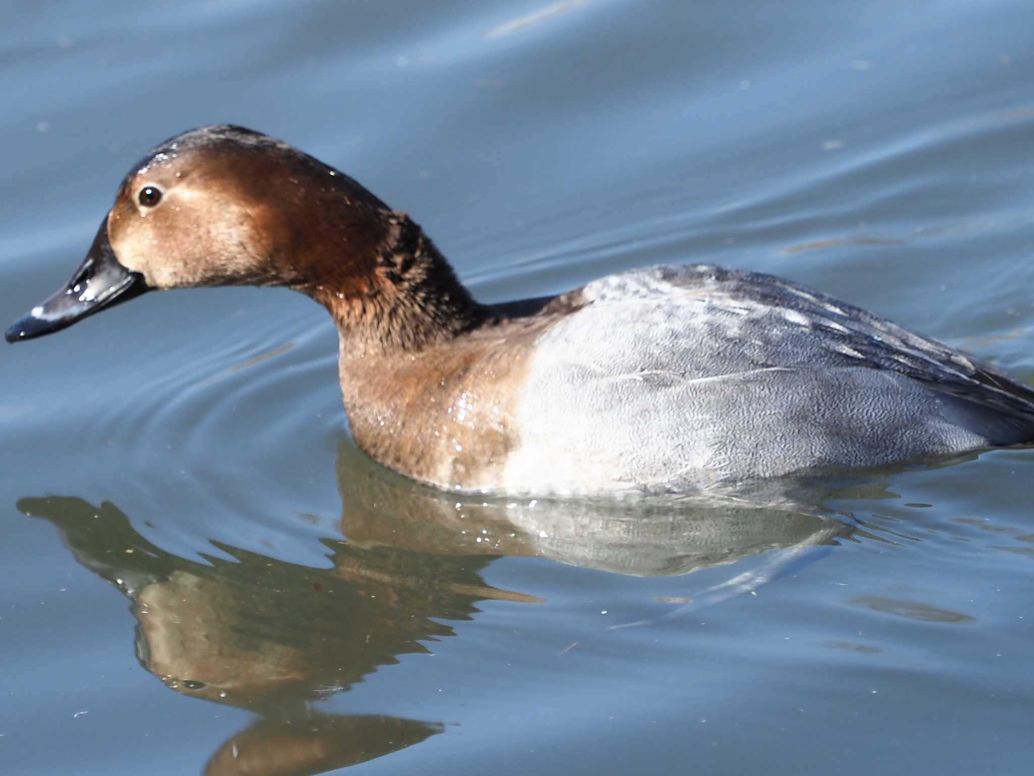
[{"label": "duck's chestnut-brown head including its black bill", "polygon": [[238,126],[172,138],[133,166],[68,283],[6,333],[49,334],[152,289],[288,286],[362,297],[379,281],[393,214],[359,183]]}]

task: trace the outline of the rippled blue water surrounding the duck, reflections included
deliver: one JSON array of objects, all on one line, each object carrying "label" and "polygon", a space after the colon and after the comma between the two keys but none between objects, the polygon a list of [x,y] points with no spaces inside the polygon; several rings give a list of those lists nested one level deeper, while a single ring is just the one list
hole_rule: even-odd
[{"label": "rippled blue water surrounding the duck, reflections included", "polygon": [[[719,262],[1034,379],[1021,0],[4,18],[5,321],[141,153],[233,121],[485,300]],[[307,300],[222,289],[0,351],[5,774],[1029,772],[1029,452],[780,509],[457,509],[355,449],[335,348]]]}]

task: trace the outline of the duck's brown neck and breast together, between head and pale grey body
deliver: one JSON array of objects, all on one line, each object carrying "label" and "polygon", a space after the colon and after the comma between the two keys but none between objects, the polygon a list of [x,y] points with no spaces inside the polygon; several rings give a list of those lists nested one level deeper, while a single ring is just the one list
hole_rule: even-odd
[{"label": "duck's brown neck and breast together, between head and pale grey body", "polygon": [[504,316],[472,298],[420,227],[403,214],[389,221],[373,272],[312,294],[337,322],[353,437],[407,477],[492,486],[485,472],[499,470],[513,446],[501,417],[523,340],[483,336]]}]

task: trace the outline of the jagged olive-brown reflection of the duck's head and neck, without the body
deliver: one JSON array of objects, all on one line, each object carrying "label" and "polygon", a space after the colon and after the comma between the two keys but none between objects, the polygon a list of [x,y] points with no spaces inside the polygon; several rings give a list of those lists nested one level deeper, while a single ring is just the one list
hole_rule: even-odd
[{"label": "jagged olive-brown reflection of the duck's head and neck, without the body", "polygon": [[[97,508],[74,498],[22,499],[19,508],[53,523],[75,560],[133,601],[144,667],[179,692],[262,715],[219,749],[207,776],[324,773],[443,732],[438,723],[322,714],[310,702],[397,655],[426,651],[418,639],[452,635],[429,618],[470,616],[478,594],[453,585],[478,590],[478,561],[463,569],[328,541],[330,569],[224,545],[237,563],[213,558],[208,566],[155,546],[108,502]],[[395,584],[399,574],[425,584]],[[439,578],[446,583],[435,584]]]}]

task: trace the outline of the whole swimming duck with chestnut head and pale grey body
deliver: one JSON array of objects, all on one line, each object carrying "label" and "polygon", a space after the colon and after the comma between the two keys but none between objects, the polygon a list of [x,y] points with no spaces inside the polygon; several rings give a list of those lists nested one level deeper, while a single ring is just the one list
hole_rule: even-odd
[{"label": "whole swimming duck with chestnut head and pale grey body", "polygon": [[1034,441],[1028,386],[770,274],[656,266],[480,303],[406,213],[229,124],[135,163],[69,282],[6,339],[231,285],[323,305],[358,447],[450,491],[692,494]]}]

